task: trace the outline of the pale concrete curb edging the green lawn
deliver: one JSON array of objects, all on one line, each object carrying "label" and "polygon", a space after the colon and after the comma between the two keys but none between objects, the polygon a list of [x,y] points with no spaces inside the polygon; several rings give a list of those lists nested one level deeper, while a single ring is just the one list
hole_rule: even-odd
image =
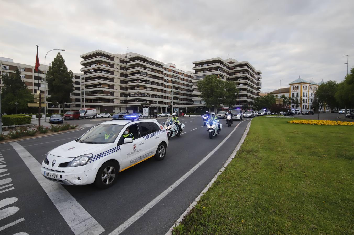
[{"label": "pale concrete curb edging the green lawn", "polygon": [[227,165],[232,161],[232,159],[235,157],[237,151],[239,151],[241,145],[243,144],[246,136],[247,136],[247,133],[249,132],[250,130],[250,126],[251,126],[251,122],[252,122],[252,119],[251,121],[247,124],[247,127],[245,129],[245,132],[244,134],[242,135],[241,137],[241,140],[239,142],[239,144],[236,146],[236,148],[234,149],[234,151],[231,153],[230,157],[227,159],[227,161],[225,162],[225,164],[222,166],[222,168],[220,168],[220,170],[218,171],[218,173],[214,176],[214,178],[207,184],[207,186],[203,189],[203,191],[201,191],[201,193],[198,195],[198,197],[193,201],[192,204],[190,204],[190,206],[187,208],[187,210],[185,210],[183,212],[183,214],[177,219],[177,221],[175,222],[175,224],[172,225],[172,227],[169,229],[169,231],[167,231],[167,233],[165,235],[172,235],[172,229],[173,227],[176,227],[177,225],[179,225],[182,221],[183,221],[183,218],[184,216],[186,216],[190,210],[193,209],[193,207],[198,203],[198,201],[200,200],[201,196],[206,193],[209,188],[211,187],[211,185],[214,183],[214,181],[217,179],[217,177],[225,170],[225,167],[227,167]]}]

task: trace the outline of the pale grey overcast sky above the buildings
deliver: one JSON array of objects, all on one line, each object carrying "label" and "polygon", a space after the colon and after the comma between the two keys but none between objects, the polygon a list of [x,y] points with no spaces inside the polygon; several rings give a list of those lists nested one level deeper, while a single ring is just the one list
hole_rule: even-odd
[{"label": "pale grey overcast sky above the buildings", "polygon": [[[69,70],[80,54],[135,52],[192,71],[192,61],[249,61],[262,91],[297,79],[336,80],[354,66],[354,1],[0,0],[0,55],[44,64],[63,48]],[[57,52],[48,53],[49,64]],[[286,84],[286,85],[285,85]]]}]

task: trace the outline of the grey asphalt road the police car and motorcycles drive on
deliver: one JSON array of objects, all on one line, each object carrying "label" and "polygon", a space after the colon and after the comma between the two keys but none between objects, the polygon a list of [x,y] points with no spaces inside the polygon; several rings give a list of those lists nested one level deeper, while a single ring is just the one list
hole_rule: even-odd
[{"label": "grey asphalt road the police car and motorcycles drive on", "polygon": [[[159,122],[164,120],[165,118],[158,118]],[[57,204],[48,197],[34,176],[33,169],[39,171],[36,165],[42,163],[48,151],[75,140],[101,121],[104,120],[67,121],[85,129],[17,141],[29,153],[22,155],[22,158],[13,148],[14,144],[0,144],[1,234],[74,234],[68,225],[70,221],[65,221],[56,207]],[[201,117],[184,117],[180,121],[185,123],[185,130],[180,137],[170,139],[163,161],[150,158],[122,171],[118,182],[105,190],[93,185],[60,186],[104,229],[102,233],[92,231],[91,234],[165,234],[222,167],[239,143],[250,119],[234,121],[229,128],[222,119],[224,127],[213,139],[209,139],[206,128],[202,127]],[[209,159],[177,187],[173,187],[176,181],[198,165],[234,129]],[[25,162],[31,158],[34,162],[28,167]],[[164,194],[169,189],[172,189],[171,192]],[[51,197],[55,198],[56,195],[52,193]],[[60,196],[58,197],[57,201],[60,201]],[[152,201],[156,203],[152,205]],[[80,216],[75,214],[75,206],[65,205],[66,201],[60,203],[72,207],[72,213],[76,217]],[[136,219],[132,219],[132,216]],[[120,233],[116,229],[122,225],[126,226]]]}]

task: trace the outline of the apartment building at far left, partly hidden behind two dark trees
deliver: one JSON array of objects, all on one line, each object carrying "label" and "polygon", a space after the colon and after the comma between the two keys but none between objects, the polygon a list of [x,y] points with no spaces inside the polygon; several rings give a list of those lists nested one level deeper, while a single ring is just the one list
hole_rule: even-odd
[{"label": "apartment building at far left, partly hidden behind two dark trees", "polygon": [[[0,74],[10,75],[11,73],[15,73],[15,70],[18,68],[19,71],[21,72],[21,78],[28,86],[28,89],[30,89],[33,94],[36,94],[39,87],[41,94],[44,94],[44,65],[39,66],[39,81],[38,81],[37,72],[34,71],[35,68],[34,64],[35,63],[33,63],[33,65],[19,64],[13,62],[13,60],[10,58],[0,57]],[[46,65],[46,70],[48,70],[48,68],[49,65]],[[74,91],[70,95],[72,99],[72,103],[64,104],[65,111],[79,110],[81,108],[80,80],[81,80],[80,74],[74,73],[73,74]],[[4,84],[2,83],[2,79],[0,79],[0,88],[2,87],[4,87]],[[46,85],[46,88],[47,88],[46,95],[47,97],[50,97],[50,93],[48,94],[48,84]],[[53,107],[51,103],[47,103],[47,113],[51,113],[51,112],[61,113],[62,112],[61,104]]]}]

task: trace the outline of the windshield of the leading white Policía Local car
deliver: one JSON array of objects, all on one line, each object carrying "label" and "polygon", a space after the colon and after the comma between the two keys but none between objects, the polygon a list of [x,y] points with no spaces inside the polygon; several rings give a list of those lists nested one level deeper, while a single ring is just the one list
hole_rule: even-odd
[{"label": "windshield of the leading white Polic\u00eda Local car", "polygon": [[82,135],[76,141],[88,144],[109,144],[113,143],[118,137],[124,125],[117,124],[99,124],[90,131]]}]

